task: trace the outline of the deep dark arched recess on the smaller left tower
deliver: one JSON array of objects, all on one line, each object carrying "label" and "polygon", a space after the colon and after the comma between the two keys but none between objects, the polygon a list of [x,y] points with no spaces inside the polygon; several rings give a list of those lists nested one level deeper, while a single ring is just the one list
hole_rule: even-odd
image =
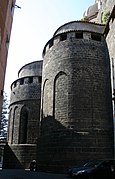
[{"label": "deep dark arched recess on the smaller left tower", "polygon": [[25,106],[22,107],[20,112],[19,123],[19,144],[27,143],[27,124],[28,124],[28,110]]}]

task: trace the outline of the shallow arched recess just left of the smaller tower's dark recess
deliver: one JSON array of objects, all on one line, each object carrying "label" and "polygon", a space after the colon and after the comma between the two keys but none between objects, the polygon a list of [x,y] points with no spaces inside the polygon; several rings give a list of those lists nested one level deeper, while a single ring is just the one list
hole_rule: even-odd
[{"label": "shallow arched recess just left of the smaller tower's dark recess", "polygon": [[16,129],[15,123],[16,123],[16,120],[17,120],[17,115],[16,115],[17,110],[18,110],[18,106],[15,106],[13,118],[12,118],[11,123],[10,123],[10,125],[12,125],[12,134],[11,134],[11,136],[12,136],[11,137],[11,143],[12,144],[15,143],[15,133],[17,132],[17,130],[15,130]]}]

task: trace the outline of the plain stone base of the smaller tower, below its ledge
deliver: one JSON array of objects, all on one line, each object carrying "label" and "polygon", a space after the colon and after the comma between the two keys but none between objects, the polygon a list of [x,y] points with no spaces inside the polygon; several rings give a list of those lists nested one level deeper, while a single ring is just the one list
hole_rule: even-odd
[{"label": "plain stone base of the smaller tower, below its ledge", "polygon": [[27,169],[36,159],[36,145],[6,145],[3,156],[3,169]]}]

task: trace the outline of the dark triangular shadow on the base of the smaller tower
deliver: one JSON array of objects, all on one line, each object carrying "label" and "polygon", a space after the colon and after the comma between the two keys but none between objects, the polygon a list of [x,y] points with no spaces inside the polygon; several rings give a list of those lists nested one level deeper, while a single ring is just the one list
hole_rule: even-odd
[{"label": "dark triangular shadow on the base of the smaller tower", "polygon": [[3,169],[23,169],[10,146],[6,143],[3,155]]}]

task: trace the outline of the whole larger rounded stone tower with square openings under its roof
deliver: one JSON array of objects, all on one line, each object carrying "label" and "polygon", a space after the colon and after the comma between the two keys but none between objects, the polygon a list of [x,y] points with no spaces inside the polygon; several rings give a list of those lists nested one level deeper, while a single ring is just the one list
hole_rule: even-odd
[{"label": "whole larger rounded stone tower with square openings under its roof", "polygon": [[104,26],[72,21],[43,50],[39,167],[113,158],[110,60]]}]

